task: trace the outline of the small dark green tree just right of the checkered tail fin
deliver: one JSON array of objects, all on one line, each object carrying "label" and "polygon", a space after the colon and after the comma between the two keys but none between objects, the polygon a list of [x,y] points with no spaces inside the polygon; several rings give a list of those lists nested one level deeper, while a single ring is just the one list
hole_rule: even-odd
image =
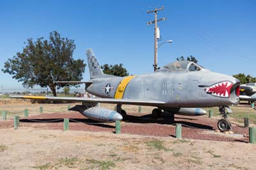
[{"label": "small dark green tree just right of the checkered tail fin", "polygon": [[124,77],[129,75],[129,73],[127,72],[127,70],[123,67],[123,64],[120,63],[119,65],[102,65],[101,69],[104,73],[109,74],[109,75],[116,75],[116,76],[120,76],[120,77]]}]

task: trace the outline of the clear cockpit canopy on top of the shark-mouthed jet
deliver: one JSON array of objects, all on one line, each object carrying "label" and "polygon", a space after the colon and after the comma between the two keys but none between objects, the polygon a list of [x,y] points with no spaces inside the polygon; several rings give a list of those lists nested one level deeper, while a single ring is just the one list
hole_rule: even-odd
[{"label": "clear cockpit canopy on top of the shark-mouthed jet", "polygon": [[195,72],[195,71],[205,71],[205,68],[197,65],[192,61],[175,61],[168,65],[163,66],[159,71],[171,71],[171,72]]}]

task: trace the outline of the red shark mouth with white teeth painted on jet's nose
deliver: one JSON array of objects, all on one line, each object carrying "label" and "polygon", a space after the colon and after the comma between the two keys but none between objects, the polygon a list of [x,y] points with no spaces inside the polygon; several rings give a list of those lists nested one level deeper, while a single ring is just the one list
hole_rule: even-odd
[{"label": "red shark mouth with white teeth painted on jet's nose", "polygon": [[205,92],[216,97],[230,97],[230,90],[232,88],[232,82],[223,81],[216,84],[212,84],[208,88],[205,88]]}]

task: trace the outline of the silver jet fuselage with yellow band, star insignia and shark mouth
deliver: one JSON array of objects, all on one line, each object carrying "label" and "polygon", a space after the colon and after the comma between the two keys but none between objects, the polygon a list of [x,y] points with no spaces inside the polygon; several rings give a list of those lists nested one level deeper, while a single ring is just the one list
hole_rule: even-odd
[{"label": "silver jet fuselage with yellow band, star insignia and shark mouth", "polygon": [[191,61],[176,61],[156,73],[104,75],[90,81],[86,91],[97,97],[164,102],[160,107],[214,107],[239,100],[236,78],[210,72]]}]

